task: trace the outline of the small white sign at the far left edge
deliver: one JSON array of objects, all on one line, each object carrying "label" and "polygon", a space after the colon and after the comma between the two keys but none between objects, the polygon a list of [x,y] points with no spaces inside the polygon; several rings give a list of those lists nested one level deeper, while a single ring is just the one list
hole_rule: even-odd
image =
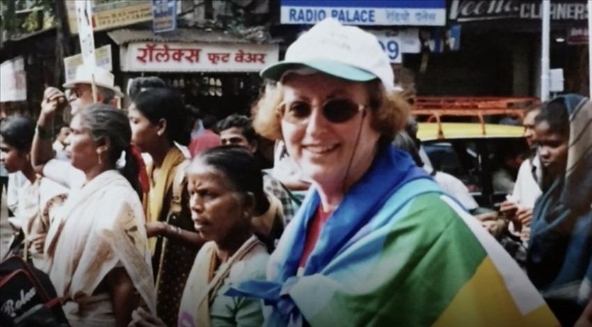
[{"label": "small white sign at the far left edge", "polygon": [[0,65],[0,102],[26,100],[26,72],[22,56]]}]

